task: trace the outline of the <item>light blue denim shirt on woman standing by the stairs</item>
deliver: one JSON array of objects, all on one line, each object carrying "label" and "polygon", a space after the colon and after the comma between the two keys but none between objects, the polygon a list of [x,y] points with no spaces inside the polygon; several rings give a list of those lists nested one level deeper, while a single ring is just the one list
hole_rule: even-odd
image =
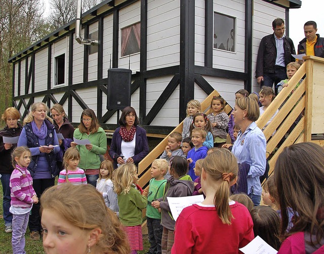
[{"label": "light blue denim shirt on woman standing by the stairs", "polygon": [[259,177],[264,174],[266,166],[266,139],[255,122],[246,131],[238,133],[232,153],[238,163],[246,162],[250,165],[248,173],[248,194],[261,195],[262,187]]}]

